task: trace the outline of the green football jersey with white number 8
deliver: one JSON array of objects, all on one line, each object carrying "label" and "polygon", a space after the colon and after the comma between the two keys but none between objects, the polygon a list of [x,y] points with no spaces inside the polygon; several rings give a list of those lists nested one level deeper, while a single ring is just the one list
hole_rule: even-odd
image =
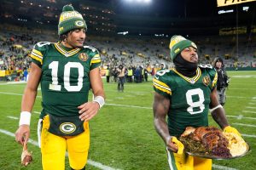
[{"label": "green football jersey with white number 8", "polygon": [[208,126],[210,94],[218,74],[212,66],[199,66],[195,77],[184,77],[175,69],[158,71],[153,79],[154,91],[170,99],[168,129],[179,137],[185,127]]}]

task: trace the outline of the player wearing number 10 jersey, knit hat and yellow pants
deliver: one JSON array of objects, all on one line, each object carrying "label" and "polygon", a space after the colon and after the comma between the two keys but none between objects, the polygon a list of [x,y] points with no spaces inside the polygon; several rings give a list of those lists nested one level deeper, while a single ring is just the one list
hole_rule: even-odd
[{"label": "player wearing number 10 jersey, knit hat and yellow pants", "polygon": [[[64,170],[66,150],[70,167],[85,169],[89,121],[104,105],[105,98],[99,52],[83,45],[86,30],[83,16],[66,5],[58,26],[60,42],[38,42],[32,49],[31,71],[15,137],[20,144],[29,139],[32,106],[40,83],[43,111],[38,122],[38,143],[44,170]],[[88,101],[90,88],[93,101]]]}]

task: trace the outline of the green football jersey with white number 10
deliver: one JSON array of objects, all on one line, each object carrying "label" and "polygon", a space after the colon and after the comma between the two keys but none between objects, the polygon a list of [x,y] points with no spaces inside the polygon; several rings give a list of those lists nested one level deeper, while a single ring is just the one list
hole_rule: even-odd
[{"label": "green football jersey with white number 10", "polygon": [[96,48],[68,50],[59,42],[38,42],[30,56],[42,69],[40,117],[79,115],[78,106],[88,101],[90,70],[101,65]]}]

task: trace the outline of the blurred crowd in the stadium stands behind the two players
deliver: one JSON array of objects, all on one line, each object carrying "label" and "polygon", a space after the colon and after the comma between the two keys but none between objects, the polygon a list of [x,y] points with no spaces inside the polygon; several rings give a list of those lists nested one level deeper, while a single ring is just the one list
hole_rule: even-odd
[{"label": "blurred crowd in the stadium stands behind the two players", "polygon": [[[244,37],[245,38],[245,37]],[[0,80],[25,80],[24,71],[29,71],[31,59],[28,57],[32,45],[45,40],[58,41],[53,34],[22,33],[20,31],[1,31],[0,33]],[[256,43],[245,44],[244,50],[236,52],[236,44],[227,43],[224,37],[195,37],[200,44],[198,54],[201,64],[211,64],[215,57],[224,59],[226,67],[256,67]],[[247,41],[245,38],[241,41]],[[149,37],[96,37],[87,36],[86,44],[97,48],[102,55],[102,76],[115,82],[119,65],[125,67],[125,80],[127,82],[147,81],[145,75],[154,76],[160,70],[162,63],[166,69],[172,68],[173,63],[169,54],[168,38]],[[230,48],[232,50],[230,51]],[[232,57],[236,55],[236,57]],[[5,71],[5,73],[3,73]],[[131,72],[132,71],[132,72]],[[6,76],[3,77],[3,74]],[[131,78],[132,77],[132,78]]]}]

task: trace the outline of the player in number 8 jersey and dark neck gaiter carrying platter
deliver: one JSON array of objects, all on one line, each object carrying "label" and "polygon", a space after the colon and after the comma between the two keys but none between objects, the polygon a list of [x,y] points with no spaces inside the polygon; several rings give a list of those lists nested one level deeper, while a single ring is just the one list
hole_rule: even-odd
[{"label": "player in number 8 jersey and dark neck gaiter carrying platter", "polygon": [[[241,134],[230,127],[218,103],[218,74],[210,65],[198,65],[194,42],[173,36],[170,42],[172,70],[158,71],[153,79],[154,127],[166,143],[170,169],[212,169],[212,159],[189,156],[178,140],[186,127],[207,127],[208,111],[224,132]],[[166,122],[167,116],[167,122]]]}]

